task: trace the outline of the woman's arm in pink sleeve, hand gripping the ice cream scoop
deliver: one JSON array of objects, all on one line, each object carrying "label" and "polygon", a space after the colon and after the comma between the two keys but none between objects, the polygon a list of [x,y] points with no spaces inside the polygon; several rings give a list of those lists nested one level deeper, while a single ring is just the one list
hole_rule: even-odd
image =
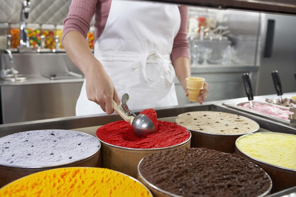
[{"label": "woman's arm in pink sleeve, hand gripping the ice cream scoop", "polygon": [[107,114],[112,114],[113,99],[119,104],[119,97],[112,80],[93,56],[85,39],[96,6],[97,0],[72,0],[64,20],[62,42],[68,57],[86,78],[88,99],[99,104]]}]

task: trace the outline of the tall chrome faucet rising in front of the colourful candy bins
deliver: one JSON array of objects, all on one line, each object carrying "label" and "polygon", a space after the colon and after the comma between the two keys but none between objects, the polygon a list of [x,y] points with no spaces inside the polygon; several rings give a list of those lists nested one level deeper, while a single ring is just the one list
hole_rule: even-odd
[{"label": "tall chrome faucet rising in front of the colourful candy bins", "polygon": [[29,17],[29,11],[31,8],[31,2],[30,0],[25,0],[22,4],[22,11],[21,11],[21,19],[20,19],[20,41],[19,46],[20,47],[29,47],[29,38],[27,35],[27,28],[26,28],[26,22],[25,18]]}]

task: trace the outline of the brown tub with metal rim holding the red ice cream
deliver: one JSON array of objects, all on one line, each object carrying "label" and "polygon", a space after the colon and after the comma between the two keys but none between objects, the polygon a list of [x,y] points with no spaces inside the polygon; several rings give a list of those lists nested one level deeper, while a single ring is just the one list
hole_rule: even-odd
[{"label": "brown tub with metal rim holding the red ice cream", "polygon": [[[97,137],[97,139],[99,138]],[[136,178],[137,165],[143,157],[156,151],[162,151],[172,148],[190,148],[191,133],[186,141],[174,146],[163,148],[127,148],[105,143],[102,140],[100,140],[100,142],[102,145],[102,167],[119,171]]]}]

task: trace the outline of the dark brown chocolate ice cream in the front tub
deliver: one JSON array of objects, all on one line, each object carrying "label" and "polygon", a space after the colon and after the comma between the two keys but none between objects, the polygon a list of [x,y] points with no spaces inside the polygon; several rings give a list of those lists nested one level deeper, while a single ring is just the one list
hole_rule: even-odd
[{"label": "dark brown chocolate ice cream in the front tub", "polygon": [[260,167],[234,154],[207,148],[181,148],[147,155],[141,177],[181,196],[258,196],[271,181]]}]

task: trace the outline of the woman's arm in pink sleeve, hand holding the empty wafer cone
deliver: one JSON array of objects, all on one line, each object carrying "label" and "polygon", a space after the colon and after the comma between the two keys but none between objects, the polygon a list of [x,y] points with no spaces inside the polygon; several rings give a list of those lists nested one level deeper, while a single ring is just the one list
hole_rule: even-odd
[{"label": "woman's arm in pink sleeve, hand holding the empty wafer cone", "polygon": [[[178,34],[174,39],[171,60],[175,68],[176,76],[179,79],[183,89],[185,90],[185,95],[188,96],[188,90],[186,88],[186,78],[191,77],[190,69],[190,50],[189,44],[187,42],[187,15],[188,7],[179,6],[179,11],[181,15],[181,26]],[[198,102],[202,104],[208,98],[208,83],[204,82],[204,89],[200,91],[198,97]]]}]

